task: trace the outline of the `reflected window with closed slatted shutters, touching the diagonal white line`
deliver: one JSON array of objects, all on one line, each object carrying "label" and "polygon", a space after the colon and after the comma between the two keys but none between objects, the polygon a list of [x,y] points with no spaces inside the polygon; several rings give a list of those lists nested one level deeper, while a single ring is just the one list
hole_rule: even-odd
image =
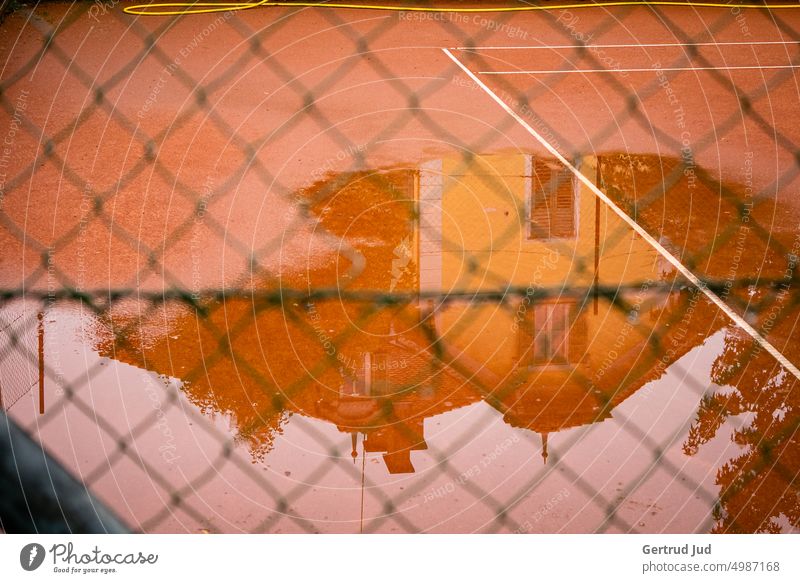
[{"label": "reflected window with closed slatted shutters, touching the diagonal white line", "polygon": [[527,166],[528,239],[574,239],[578,185],[572,172],[533,157]]}]

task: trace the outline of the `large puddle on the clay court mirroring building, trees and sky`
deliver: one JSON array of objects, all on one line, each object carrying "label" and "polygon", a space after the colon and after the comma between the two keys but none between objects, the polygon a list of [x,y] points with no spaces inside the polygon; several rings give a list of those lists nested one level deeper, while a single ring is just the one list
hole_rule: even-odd
[{"label": "large puddle on the clay court mirroring building, trees and sky", "polygon": [[[788,210],[675,159],[576,164],[796,358]],[[439,158],[293,201],[291,254],[225,290],[56,302],[41,327],[4,308],[4,405],[130,524],[797,529],[794,378],[555,161]],[[43,417],[20,355],[47,367]]]}]

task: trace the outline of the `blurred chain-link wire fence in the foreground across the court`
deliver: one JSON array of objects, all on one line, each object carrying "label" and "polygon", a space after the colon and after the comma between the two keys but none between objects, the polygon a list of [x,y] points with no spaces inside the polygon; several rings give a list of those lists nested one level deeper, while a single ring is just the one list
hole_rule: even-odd
[{"label": "blurred chain-link wire fence in the foreground across the court", "polygon": [[136,531],[796,530],[795,13],[19,5],[3,408]]}]

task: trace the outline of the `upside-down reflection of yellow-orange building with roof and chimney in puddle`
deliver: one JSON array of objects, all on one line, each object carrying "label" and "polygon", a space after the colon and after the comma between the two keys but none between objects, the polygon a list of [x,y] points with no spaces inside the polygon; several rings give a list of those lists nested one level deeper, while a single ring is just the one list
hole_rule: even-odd
[{"label": "upside-down reflection of yellow-orange building with roof and chimney in puddle", "polygon": [[[580,161],[600,184],[613,164]],[[302,415],[410,473],[426,420],[483,401],[540,434],[546,460],[549,434],[607,419],[723,325],[653,291],[662,258],[552,160],[436,159],[298,196],[335,252],[265,277],[263,297],[118,311],[124,341],[99,334],[104,355],[181,379],[257,457]]]}]

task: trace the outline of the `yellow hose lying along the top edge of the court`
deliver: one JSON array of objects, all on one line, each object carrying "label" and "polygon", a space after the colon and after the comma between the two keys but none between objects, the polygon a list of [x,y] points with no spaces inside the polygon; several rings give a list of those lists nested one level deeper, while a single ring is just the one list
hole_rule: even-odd
[{"label": "yellow hose lying along the top edge of the court", "polygon": [[[582,2],[580,4],[555,4],[536,6],[505,6],[497,8],[437,8],[435,6],[388,6],[373,4],[347,4],[347,3],[320,3],[320,2],[159,2],[155,4],[137,4],[126,6],[123,10],[128,14],[140,16],[179,16],[182,14],[207,14],[210,12],[228,12],[235,10],[249,10],[259,6],[294,6],[312,8],[358,8],[362,10],[390,10],[393,12],[531,12],[537,10],[575,10],[578,8],[608,8],[611,6],[686,6],[691,8],[768,8],[771,10],[781,8],[800,8],[800,4],[741,4],[732,2],[632,2],[630,0],[618,2]],[[169,10],[167,10],[169,9]]]}]

